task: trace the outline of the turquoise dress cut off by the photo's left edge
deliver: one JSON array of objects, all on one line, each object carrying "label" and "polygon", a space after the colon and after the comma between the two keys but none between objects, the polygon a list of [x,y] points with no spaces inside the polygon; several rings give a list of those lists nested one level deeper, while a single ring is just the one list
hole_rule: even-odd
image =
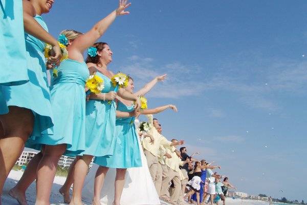
[{"label": "turquoise dress cut off by the photo's left edge", "polygon": [[0,68],[0,85],[29,81],[21,0],[0,0]]}]

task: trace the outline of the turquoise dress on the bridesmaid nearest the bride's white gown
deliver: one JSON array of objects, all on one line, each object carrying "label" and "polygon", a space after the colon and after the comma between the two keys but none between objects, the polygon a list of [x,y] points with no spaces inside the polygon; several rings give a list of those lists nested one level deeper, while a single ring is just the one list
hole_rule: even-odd
[{"label": "turquoise dress on the bridesmaid nearest the bride's white gown", "polygon": [[[131,112],[134,107],[127,107],[118,101],[117,110]],[[135,117],[116,118],[115,152],[112,156],[96,157],[94,163],[109,168],[142,167],[141,151],[134,120]]]}]

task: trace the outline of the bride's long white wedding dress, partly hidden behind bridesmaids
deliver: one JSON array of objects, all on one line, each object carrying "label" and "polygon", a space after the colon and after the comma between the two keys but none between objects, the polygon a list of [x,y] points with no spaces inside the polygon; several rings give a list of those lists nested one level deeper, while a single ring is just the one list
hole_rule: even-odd
[{"label": "bride's long white wedding dress, partly hidden behind bridesmaids", "polygon": [[[139,127],[139,120],[135,120],[136,128]],[[121,196],[121,205],[158,205],[161,204],[155,185],[153,185],[147,160],[139,141],[142,167],[129,168],[126,172],[125,185]],[[86,176],[82,191],[82,200],[92,202],[94,196],[94,180],[98,165],[94,163],[90,173]],[[101,190],[100,203],[112,205],[114,200],[114,181],[116,169],[110,168],[106,174],[103,188]]]}]

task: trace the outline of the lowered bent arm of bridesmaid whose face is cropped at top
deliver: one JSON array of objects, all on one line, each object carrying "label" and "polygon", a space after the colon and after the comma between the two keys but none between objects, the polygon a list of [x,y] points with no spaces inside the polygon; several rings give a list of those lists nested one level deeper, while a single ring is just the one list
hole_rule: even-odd
[{"label": "lowered bent arm of bridesmaid whose face is cropped at top", "polygon": [[54,56],[51,56],[48,60],[52,63],[59,63],[62,57],[60,46],[57,40],[50,35],[45,29],[43,29],[34,19],[36,12],[32,4],[24,0],[23,1],[23,15],[24,15],[24,27],[25,31],[43,42],[50,44],[54,52]]}]

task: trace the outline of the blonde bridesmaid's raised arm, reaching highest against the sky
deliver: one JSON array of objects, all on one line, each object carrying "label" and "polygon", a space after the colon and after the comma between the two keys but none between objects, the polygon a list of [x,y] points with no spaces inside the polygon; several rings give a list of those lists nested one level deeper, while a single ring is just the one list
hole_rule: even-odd
[{"label": "blonde bridesmaid's raised arm, reaching highest against the sky", "polygon": [[98,38],[104,34],[117,16],[129,14],[129,12],[125,11],[125,9],[130,5],[131,3],[127,4],[127,0],[120,0],[119,6],[116,10],[112,11],[109,15],[95,24],[90,31],[74,40],[71,48],[69,49],[69,57],[78,61],[83,60],[83,51],[92,46],[98,40]]}]

